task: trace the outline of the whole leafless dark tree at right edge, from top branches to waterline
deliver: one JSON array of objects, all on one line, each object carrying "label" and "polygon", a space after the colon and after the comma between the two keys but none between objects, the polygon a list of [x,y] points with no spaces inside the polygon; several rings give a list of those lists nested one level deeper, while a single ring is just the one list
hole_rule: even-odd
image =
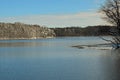
[{"label": "whole leafless dark tree at right edge, from top branches to waterline", "polygon": [[105,15],[103,19],[116,26],[116,30],[110,31],[113,36],[115,48],[120,48],[120,0],[106,0],[100,11]]}]

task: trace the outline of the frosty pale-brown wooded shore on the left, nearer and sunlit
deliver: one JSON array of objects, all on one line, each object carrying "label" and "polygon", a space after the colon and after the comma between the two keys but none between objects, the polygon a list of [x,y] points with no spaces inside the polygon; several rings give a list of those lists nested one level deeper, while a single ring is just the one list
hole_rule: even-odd
[{"label": "frosty pale-brown wooded shore on the left, nearer and sunlit", "polygon": [[36,39],[53,36],[53,30],[39,25],[0,23],[0,39]]}]

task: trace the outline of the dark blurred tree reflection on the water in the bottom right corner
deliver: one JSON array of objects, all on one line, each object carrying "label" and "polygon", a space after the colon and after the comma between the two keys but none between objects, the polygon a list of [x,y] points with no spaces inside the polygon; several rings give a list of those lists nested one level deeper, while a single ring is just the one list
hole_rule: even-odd
[{"label": "dark blurred tree reflection on the water in the bottom right corner", "polygon": [[104,60],[105,80],[120,80],[120,50],[111,50],[111,57]]}]

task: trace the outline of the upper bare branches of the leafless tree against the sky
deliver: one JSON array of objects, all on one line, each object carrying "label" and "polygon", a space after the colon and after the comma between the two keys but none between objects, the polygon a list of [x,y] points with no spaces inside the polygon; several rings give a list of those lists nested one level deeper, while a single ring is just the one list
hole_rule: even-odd
[{"label": "upper bare branches of the leafless tree against the sky", "polygon": [[104,19],[117,27],[120,35],[120,0],[106,0],[100,11],[105,15]]}]

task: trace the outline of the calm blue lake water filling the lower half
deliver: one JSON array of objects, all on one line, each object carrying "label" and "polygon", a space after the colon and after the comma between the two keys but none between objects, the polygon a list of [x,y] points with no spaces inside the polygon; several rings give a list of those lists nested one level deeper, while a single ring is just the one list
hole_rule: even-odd
[{"label": "calm blue lake water filling the lower half", "polygon": [[105,43],[99,37],[0,41],[0,80],[120,80],[117,50],[71,46]]}]

